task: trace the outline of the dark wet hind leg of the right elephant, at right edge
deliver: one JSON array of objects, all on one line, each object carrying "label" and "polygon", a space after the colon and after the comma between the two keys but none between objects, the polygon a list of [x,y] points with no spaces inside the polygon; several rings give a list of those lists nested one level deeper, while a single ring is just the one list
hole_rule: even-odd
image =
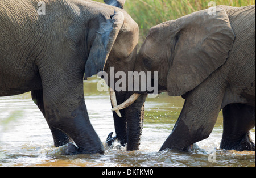
[{"label": "dark wet hind leg of the right elephant, at right edge", "polygon": [[220,148],[226,150],[253,150],[250,129],[255,126],[255,107],[233,103],[223,108],[223,135]]}]

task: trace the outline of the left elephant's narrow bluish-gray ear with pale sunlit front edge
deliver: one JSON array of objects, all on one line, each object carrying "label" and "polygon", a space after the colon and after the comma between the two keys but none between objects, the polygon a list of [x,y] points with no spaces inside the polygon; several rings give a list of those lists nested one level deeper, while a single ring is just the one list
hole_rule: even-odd
[{"label": "left elephant's narrow bluish-gray ear with pale sunlit front edge", "polygon": [[109,19],[104,18],[104,22],[100,23],[85,64],[85,79],[104,70],[115,39],[123,26],[123,20],[123,13],[114,11]]}]

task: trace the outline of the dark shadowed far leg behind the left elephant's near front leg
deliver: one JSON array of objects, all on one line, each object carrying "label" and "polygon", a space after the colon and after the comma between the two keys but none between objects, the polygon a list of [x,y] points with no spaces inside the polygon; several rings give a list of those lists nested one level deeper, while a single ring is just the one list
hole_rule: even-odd
[{"label": "dark shadowed far leg behind the left elephant's near front leg", "polygon": [[[46,118],[46,113],[44,111],[43,90],[31,91],[31,96],[34,103],[38,105],[38,108],[43,113],[44,118]],[[53,128],[53,126],[51,125],[49,125],[49,128],[52,132],[54,146],[56,147],[63,146],[71,141],[68,135],[63,133],[61,130]]]}]

